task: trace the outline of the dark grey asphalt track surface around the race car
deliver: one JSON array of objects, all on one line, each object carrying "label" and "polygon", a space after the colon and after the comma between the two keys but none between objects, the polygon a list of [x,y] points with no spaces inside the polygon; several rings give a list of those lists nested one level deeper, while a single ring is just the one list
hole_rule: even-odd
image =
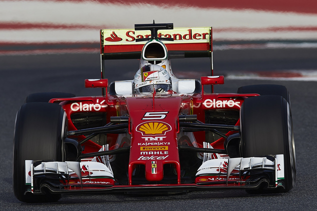
[{"label": "dark grey asphalt track surface around the race car", "polygon": [[[206,61],[208,64],[208,61]],[[175,61],[174,74],[207,74],[201,60]],[[106,63],[109,80],[129,79],[138,61]],[[240,49],[214,51],[214,74],[236,71],[267,71],[317,68],[317,49]],[[193,74],[193,70],[195,73]],[[29,93],[64,91],[97,95],[99,89],[83,86],[85,78],[98,78],[97,53],[1,55],[0,56],[0,209],[2,210],[316,210],[317,166],[315,125],[317,82],[289,80],[225,80],[215,92],[236,92],[239,86],[256,83],[285,85],[291,95],[297,174],[287,193],[247,194],[242,189],[196,191],[175,195],[64,195],[55,203],[19,202],[12,191],[12,139],[15,113]],[[180,76],[179,76],[180,75]]]}]

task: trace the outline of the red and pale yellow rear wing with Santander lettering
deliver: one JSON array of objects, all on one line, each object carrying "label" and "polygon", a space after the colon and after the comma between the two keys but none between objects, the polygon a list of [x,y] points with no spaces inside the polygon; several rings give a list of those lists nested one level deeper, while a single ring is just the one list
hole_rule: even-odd
[{"label": "red and pale yellow rear wing with Santander lettering", "polygon": [[[142,47],[146,41],[135,41],[138,38],[151,36],[150,30],[134,29],[101,29],[100,59],[101,78],[105,78],[104,60],[107,59],[140,59]],[[173,38],[163,40],[168,57],[210,57],[212,64],[212,27],[181,27],[160,29],[157,37]]]}]

